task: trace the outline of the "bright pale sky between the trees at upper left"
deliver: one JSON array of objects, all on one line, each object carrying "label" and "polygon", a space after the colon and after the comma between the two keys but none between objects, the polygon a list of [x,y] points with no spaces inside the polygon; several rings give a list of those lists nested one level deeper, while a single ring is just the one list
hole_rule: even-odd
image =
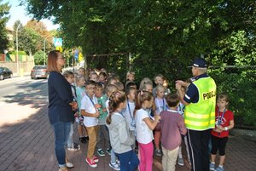
[{"label": "bright pale sky between the trees at upper left", "polygon": [[[20,20],[22,25],[25,26],[28,20],[32,20],[32,16],[26,13],[25,6],[19,6],[19,0],[3,0],[2,3],[9,3],[11,8],[9,9],[10,19],[7,23],[7,26],[13,27],[16,20]],[[57,29],[59,26],[54,25],[50,20],[41,20],[44,22],[44,25],[47,27],[48,31]]]}]

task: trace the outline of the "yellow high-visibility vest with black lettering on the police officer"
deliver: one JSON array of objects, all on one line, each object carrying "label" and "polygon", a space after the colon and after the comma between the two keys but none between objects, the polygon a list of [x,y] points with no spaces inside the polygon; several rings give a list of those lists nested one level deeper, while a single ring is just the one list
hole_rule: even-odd
[{"label": "yellow high-visibility vest with black lettering on the police officer", "polygon": [[192,130],[207,130],[215,126],[216,84],[212,77],[201,77],[193,82],[199,92],[197,103],[185,107],[186,127]]}]

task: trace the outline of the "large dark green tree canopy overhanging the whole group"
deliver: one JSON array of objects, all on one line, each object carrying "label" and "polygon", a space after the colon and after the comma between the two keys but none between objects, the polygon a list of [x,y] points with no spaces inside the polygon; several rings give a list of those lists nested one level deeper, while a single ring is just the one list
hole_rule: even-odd
[{"label": "large dark green tree canopy overhanging the whole group", "polygon": [[[27,0],[26,4],[37,19],[55,17],[66,48],[81,46],[87,55],[131,52],[131,70],[137,72],[138,80],[162,73],[173,86],[176,79],[191,77],[186,66],[201,55],[214,66],[255,66],[255,0]],[[123,75],[127,71],[126,57],[86,60],[93,67],[111,68]],[[216,79],[223,83],[230,80],[221,70],[212,74],[218,74]],[[230,86],[238,84],[241,91],[247,71],[234,74]],[[225,90],[222,82],[218,82],[219,91]],[[227,89],[233,100],[253,101],[250,96],[241,99],[243,94],[236,98],[237,89]],[[241,103],[241,108],[245,105]]]}]

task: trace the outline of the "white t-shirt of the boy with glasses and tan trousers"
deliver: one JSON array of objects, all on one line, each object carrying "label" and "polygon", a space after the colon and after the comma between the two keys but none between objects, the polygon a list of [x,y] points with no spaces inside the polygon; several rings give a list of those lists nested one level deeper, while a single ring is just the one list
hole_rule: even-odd
[{"label": "white t-shirt of the boy with glasses and tan trousers", "polygon": [[[91,102],[93,101],[93,103]],[[84,95],[82,101],[81,101],[81,110],[84,109],[88,113],[96,113],[95,104],[97,104],[96,97],[93,95],[92,99],[87,95]],[[98,119],[96,117],[84,117],[84,126],[85,127],[93,127],[98,125]]]}]

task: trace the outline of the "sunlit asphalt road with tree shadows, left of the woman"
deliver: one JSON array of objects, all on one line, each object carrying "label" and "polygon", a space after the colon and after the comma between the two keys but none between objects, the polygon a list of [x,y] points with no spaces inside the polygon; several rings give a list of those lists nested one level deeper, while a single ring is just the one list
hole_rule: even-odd
[{"label": "sunlit asphalt road with tree shadows, left of the woman", "polygon": [[36,114],[47,100],[45,79],[13,77],[0,81],[0,128]]}]

